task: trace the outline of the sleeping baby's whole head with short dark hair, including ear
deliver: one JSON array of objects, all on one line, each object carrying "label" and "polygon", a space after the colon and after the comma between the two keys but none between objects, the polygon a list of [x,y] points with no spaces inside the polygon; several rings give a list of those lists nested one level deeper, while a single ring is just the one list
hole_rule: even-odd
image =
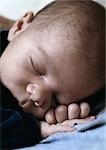
[{"label": "sleeping baby's whole head with short dark hair, including ear", "polygon": [[57,1],[10,30],[0,78],[25,111],[42,118],[54,101],[80,101],[104,86],[105,10],[91,1]]}]

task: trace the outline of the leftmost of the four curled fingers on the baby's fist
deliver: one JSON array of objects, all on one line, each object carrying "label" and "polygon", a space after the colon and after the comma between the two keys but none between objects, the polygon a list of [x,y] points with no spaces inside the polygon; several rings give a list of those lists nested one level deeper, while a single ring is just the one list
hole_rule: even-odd
[{"label": "leftmost of the four curled fingers on the baby's fist", "polygon": [[48,112],[45,114],[45,120],[49,124],[54,124],[56,123],[56,118],[55,118],[55,110],[54,108],[50,108]]}]

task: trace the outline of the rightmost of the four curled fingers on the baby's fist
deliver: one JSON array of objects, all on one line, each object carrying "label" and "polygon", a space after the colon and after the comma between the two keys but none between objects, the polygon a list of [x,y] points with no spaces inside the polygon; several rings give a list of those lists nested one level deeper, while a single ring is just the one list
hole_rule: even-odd
[{"label": "rightmost of the four curled fingers on the baby's fist", "polygon": [[88,103],[86,102],[82,102],[80,104],[80,118],[85,118],[89,115],[89,112],[90,112],[90,106]]}]

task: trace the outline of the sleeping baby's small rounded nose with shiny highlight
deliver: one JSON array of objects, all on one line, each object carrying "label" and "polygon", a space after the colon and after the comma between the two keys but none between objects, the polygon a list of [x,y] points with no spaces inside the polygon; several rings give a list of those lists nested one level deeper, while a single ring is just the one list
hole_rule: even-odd
[{"label": "sleeping baby's small rounded nose with shiny highlight", "polygon": [[36,87],[35,84],[28,84],[26,92],[30,95],[30,99],[35,103],[36,106],[42,106],[45,101],[44,92]]}]

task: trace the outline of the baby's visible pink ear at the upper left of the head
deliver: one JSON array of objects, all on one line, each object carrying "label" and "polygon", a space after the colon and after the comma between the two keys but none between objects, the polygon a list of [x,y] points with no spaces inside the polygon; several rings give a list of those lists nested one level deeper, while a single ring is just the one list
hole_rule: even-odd
[{"label": "baby's visible pink ear at the upper left of the head", "polygon": [[12,41],[14,37],[23,32],[33,21],[33,19],[34,19],[33,12],[27,12],[23,17],[18,19],[9,31],[8,41]]}]

